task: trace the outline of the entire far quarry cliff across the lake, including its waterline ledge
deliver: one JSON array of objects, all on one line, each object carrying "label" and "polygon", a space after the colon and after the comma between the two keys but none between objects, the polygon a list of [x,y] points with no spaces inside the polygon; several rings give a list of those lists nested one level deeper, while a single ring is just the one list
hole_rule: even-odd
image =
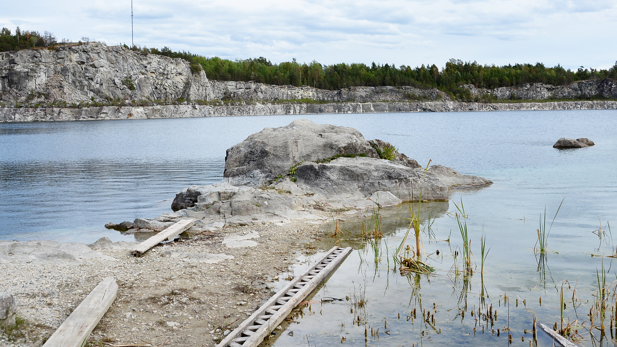
[{"label": "entire far quarry cliff across the lake, including its waterline ledge", "polygon": [[[566,86],[529,83],[495,90],[497,99],[617,99],[617,81]],[[311,102],[302,102],[311,101]],[[615,109],[616,101],[500,104],[452,101],[442,91],[402,87],[320,90],[209,80],[188,62],[101,43],[0,52],[0,122],[350,112]]]}]

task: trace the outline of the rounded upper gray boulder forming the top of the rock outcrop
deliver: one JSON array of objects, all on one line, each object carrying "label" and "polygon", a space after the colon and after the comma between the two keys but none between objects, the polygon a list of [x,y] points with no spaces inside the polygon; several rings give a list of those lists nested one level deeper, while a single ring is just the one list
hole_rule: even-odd
[{"label": "rounded upper gray boulder forming the top of the rock outcrop", "polygon": [[288,175],[300,162],[334,156],[379,158],[358,130],[300,119],[284,127],[265,128],[228,149],[223,180],[233,185],[261,186],[279,175]]}]

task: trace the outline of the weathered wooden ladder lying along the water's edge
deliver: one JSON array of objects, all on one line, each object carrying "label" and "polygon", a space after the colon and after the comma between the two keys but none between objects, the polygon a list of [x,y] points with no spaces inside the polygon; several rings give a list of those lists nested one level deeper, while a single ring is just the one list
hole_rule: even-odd
[{"label": "weathered wooden ladder lying along the water's edge", "polygon": [[317,264],[296,277],[221,341],[217,347],[256,347],[270,335],[294,307],[306,298],[351,253],[333,247]]}]

